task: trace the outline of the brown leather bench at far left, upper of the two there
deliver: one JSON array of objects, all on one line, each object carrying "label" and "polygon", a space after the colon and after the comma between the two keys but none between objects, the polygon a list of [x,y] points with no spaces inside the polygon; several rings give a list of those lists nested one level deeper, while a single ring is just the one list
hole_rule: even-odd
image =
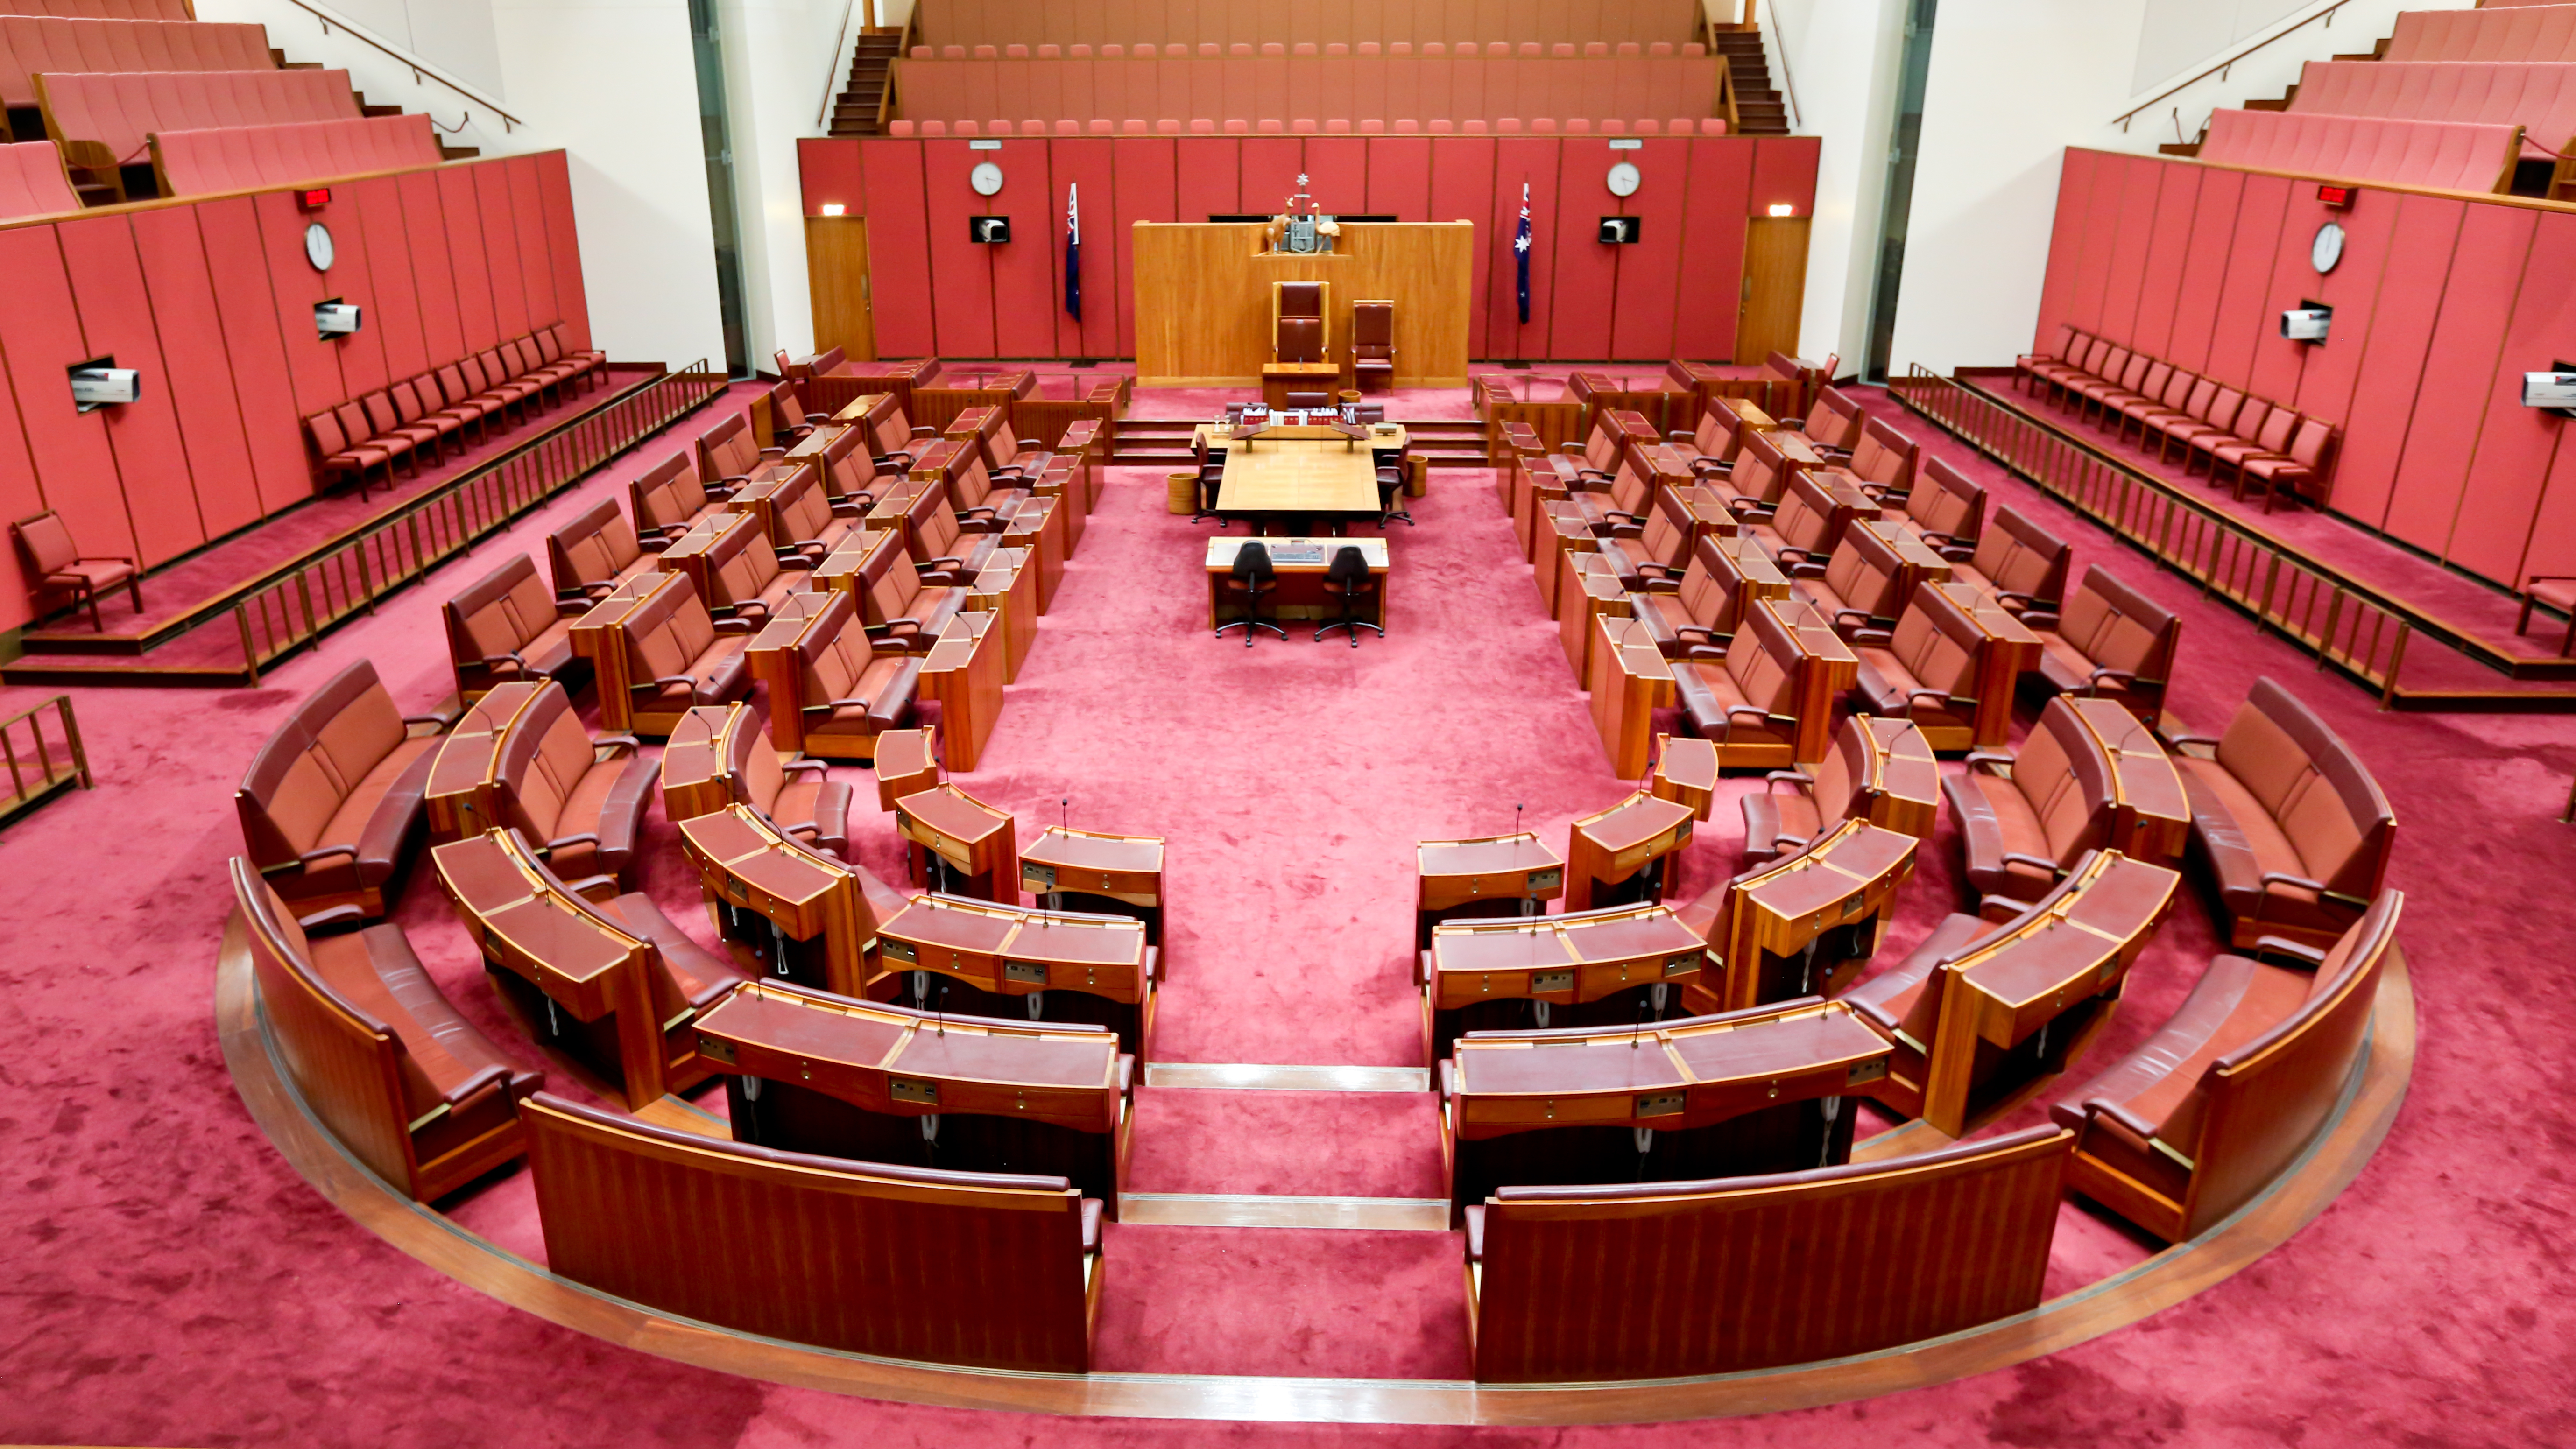
[{"label": "brown leather bench at far left, upper of the two there", "polygon": [[404,715],[358,659],[322,682],[260,749],[234,790],[242,844],[307,916],[384,914],[384,888],[420,834],[435,715]]}]

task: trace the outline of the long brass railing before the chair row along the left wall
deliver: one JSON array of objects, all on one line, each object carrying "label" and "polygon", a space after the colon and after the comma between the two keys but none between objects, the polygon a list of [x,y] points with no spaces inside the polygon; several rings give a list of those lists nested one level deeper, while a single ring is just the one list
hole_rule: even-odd
[{"label": "long brass railing before the chair row along the left wall", "polygon": [[322,638],[332,625],[374,613],[384,595],[464,553],[479,538],[500,533],[592,468],[696,412],[724,386],[724,373],[708,371],[706,358],[677,373],[662,373],[245,595],[232,607],[245,682],[258,685],[260,669]]}]

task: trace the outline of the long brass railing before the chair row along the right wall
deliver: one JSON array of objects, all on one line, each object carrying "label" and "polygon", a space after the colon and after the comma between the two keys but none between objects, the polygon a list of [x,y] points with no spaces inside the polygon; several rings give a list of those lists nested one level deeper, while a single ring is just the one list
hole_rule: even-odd
[{"label": "long brass railing before the chair row along the right wall", "polygon": [[1996,463],[2030,479],[2066,507],[2136,543],[2161,566],[2254,615],[2342,674],[2398,695],[2414,625],[2378,600],[2249,533],[2228,515],[2154,484],[1994,399],[1922,368],[1888,378],[1888,394]]}]

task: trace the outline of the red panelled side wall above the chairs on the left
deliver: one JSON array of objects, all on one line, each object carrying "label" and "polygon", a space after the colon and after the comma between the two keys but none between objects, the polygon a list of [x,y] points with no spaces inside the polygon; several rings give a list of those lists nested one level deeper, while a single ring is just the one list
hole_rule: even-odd
[{"label": "red panelled side wall above the chairs on the left", "polygon": [[[304,417],[562,319],[590,345],[562,152],[0,226],[0,517],[59,510],[82,553],[165,564],[312,497]],[[335,265],[304,260],[304,226]],[[363,309],[325,342],[314,304]],[[82,414],[113,355],[142,399]],[[0,551],[0,628],[28,623]]]}]

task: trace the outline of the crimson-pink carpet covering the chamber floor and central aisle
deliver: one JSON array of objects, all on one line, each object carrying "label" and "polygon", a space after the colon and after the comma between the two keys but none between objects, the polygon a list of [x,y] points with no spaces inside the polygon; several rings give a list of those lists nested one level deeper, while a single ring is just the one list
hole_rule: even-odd
[{"label": "crimson-pink carpet covering the chamber floor and central aisle", "polygon": [[[703,425],[703,417],[696,425]],[[1911,425],[1914,432],[1929,432]],[[1929,443],[1929,440],[1927,440]],[[1994,468],[1937,443],[1963,466]],[[2563,1441],[2576,1349],[2558,1238],[2576,1122],[2576,1009],[2555,991],[2555,914],[2576,831],[2555,824],[2576,728],[2548,718],[2380,715],[2293,654],[2020,484],[2004,497],[2187,613],[2177,710],[2226,721],[2257,674],[2311,700],[2403,821],[2421,1001],[2414,1094],[2378,1161],[2318,1223],[2241,1277],[2066,1354],[1955,1385],[1772,1418],[1422,1431],[1030,1421],[876,1405],[688,1369],[507,1310],[399,1256],[307,1189],[247,1122],[211,1035],[229,790],[291,700],[371,656],[404,705],[451,690],[438,600],[613,489],[652,445],[477,548],[319,656],[240,692],[77,692],[100,788],[10,826],[23,901],[0,955],[15,1053],[0,1150],[10,1331],[0,1439],[82,1444],[2280,1444]],[[1206,638],[1206,525],[1162,479],[1118,471],[984,770],[1020,813],[1172,839],[1172,970],[1157,1060],[1414,1066],[1404,934],[1409,847],[1548,836],[1623,793],[1481,474],[1440,471],[1396,528],[1394,636],[1358,651]],[[2079,558],[2079,564],[2084,561]],[[23,708],[36,690],[10,690]],[[842,772],[863,780],[858,772]],[[1734,785],[1741,793],[1752,782]],[[1734,865],[1734,803],[1690,885]],[[871,870],[899,872],[881,816]],[[688,901],[667,831],[649,888]],[[1958,844],[1924,852],[1891,950],[1955,903]],[[435,880],[402,921],[448,993],[533,1050],[482,983]],[[2208,952],[2184,911],[2141,963],[2097,1053],[2154,1027]],[[569,1086],[556,1073],[556,1086]],[[1437,1194],[1427,1102],[1146,1089],[1139,1192]],[[536,1251],[526,1176],[459,1210]],[[2143,1256],[2066,1212],[2050,1292]],[[1115,1369],[1455,1377],[1455,1241],[1435,1233],[1110,1230],[1100,1359]]]}]

